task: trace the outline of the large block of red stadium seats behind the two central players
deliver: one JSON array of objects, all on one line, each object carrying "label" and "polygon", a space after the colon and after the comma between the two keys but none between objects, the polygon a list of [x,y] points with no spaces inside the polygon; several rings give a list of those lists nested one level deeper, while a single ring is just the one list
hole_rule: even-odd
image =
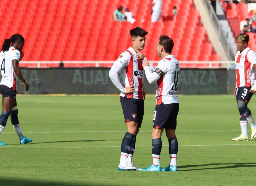
[{"label": "large block of red stadium seats behind the two central players", "polygon": [[[148,32],[142,52],[149,60],[160,59],[155,47],[161,34],[173,38],[173,54],[178,60],[220,60],[208,41],[193,0],[163,0],[162,20],[155,23],[150,21],[151,4],[151,0],[2,0],[0,40],[10,38],[13,33],[22,34],[25,37],[23,60],[27,61],[115,60],[131,45],[129,30],[140,26]],[[136,22],[114,21],[118,6],[129,7]],[[174,6],[178,16],[172,16]],[[22,65],[36,67],[36,64]],[[64,67],[72,65],[65,63]],[[90,65],[93,66],[76,64],[74,67]]]}]

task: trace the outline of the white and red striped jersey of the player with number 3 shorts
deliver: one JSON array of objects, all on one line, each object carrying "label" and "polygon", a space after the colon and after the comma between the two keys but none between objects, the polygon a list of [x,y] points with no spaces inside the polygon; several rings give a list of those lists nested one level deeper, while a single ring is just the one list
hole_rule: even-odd
[{"label": "white and red striped jersey of the player with number 3 shorts", "polygon": [[235,55],[236,64],[236,87],[252,86],[255,82],[256,53],[247,47],[242,52],[237,51]]}]

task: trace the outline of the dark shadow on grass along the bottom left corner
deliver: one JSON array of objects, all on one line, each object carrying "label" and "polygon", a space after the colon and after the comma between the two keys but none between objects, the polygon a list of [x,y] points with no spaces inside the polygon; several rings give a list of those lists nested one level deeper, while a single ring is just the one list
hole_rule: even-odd
[{"label": "dark shadow on grass along the bottom left corner", "polygon": [[[1,186],[96,186],[97,184],[74,184],[74,183],[61,183],[54,181],[34,181],[34,180],[22,180],[11,178],[0,178]],[[101,184],[102,186],[110,186]]]}]

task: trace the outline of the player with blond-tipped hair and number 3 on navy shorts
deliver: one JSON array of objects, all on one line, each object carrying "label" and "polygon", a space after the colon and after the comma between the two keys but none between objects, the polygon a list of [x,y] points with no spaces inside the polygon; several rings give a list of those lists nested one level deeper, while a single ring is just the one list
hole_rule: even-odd
[{"label": "player with blond-tipped hair and number 3 on navy shorts", "polygon": [[237,138],[233,138],[233,141],[248,140],[248,122],[250,123],[252,130],[251,139],[256,138],[256,125],[252,113],[247,107],[252,95],[256,92],[256,53],[247,46],[248,42],[249,36],[247,34],[239,34],[236,38],[236,83],[234,95],[236,96],[237,108],[240,113],[240,127],[242,134]]}]

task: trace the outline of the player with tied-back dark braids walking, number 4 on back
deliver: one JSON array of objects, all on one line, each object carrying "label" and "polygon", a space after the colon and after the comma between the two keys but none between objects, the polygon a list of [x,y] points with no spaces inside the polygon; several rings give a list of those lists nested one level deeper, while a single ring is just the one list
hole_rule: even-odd
[{"label": "player with tied-back dark braids walking, number 4 on back", "polygon": [[[25,82],[20,68],[19,61],[23,58],[22,52],[25,40],[20,34],[14,34],[11,38],[4,40],[0,52],[1,74],[0,91],[2,93],[2,114],[0,116],[0,134],[5,128],[9,115],[11,123],[20,138],[20,144],[27,144],[32,141],[23,136],[18,120],[18,107],[16,102],[16,76],[21,80],[25,91],[29,90],[29,85]],[[0,145],[7,145],[2,143]]]}]

